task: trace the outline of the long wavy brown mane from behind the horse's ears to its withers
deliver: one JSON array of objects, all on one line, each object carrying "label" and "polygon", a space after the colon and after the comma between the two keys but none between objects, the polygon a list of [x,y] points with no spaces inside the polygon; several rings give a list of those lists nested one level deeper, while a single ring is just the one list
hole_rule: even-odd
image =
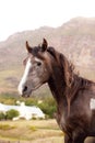
[{"label": "long wavy brown mane from behind the horse's ears to its withers", "polygon": [[73,99],[74,95],[80,89],[83,90],[90,87],[92,81],[80,77],[80,75],[75,73],[74,65],[69,62],[63,54],[58,53],[54,47],[48,47],[47,52],[49,52],[55,57],[59,67],[61,68],[63,80],[66,82],[67,98]]}]

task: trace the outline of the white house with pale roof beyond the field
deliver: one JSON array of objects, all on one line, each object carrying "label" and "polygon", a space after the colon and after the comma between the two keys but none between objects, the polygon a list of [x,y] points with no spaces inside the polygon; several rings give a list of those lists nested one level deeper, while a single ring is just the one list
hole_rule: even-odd
[{"label": "white house with pale roof beyond the field", "polygon": [[21,102],[20,106],[8,106],[0,103],[0,111],[7,112],[11,109],[17,110],[20,112],[20,116],[17,118],[13,118],[13,120],[19,120],[20,118],[24,118],[26,120],[31,120],[32,118],[41,118],[45,119],[44,112],[38,107],[28,107],[25,106],[24,102]]}]

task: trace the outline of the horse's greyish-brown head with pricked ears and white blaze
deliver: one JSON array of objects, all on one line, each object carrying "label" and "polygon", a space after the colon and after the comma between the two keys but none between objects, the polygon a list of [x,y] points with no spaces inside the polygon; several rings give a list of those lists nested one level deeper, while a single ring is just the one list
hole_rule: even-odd
[{"label": "horse's greyish-brown head with pricked ears and white blaze", "polygon": [[28,55],[23,61],[25,70],[19,85],[20,95],[28,97],[33,90],[36,90],[49,79],[51,58],[47,48],[48,43],[45,38],[40,45],[35,47],[31,47],[26,41]]}]

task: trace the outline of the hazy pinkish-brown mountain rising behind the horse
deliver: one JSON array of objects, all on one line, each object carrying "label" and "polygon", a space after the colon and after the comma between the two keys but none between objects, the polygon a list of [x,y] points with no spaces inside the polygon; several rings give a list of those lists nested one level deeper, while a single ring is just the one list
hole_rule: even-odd
[{"label": "hazy pinkish-brown mountain rising behind the horse", "polygon": [[[47,38],[49,45],[63,53],[80,75],[95,80],[95,18],[74,18],[54,29],[41,26],[34,31],[15,33],[0,42],[0,89],[16,87],[26,56],[25,41],[32,46]],[[11,88],[12,90],[12,88]]]}]

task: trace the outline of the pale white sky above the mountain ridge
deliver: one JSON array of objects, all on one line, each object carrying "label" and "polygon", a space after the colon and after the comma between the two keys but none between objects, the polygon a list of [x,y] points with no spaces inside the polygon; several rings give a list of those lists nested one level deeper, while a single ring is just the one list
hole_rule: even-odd
[{"label": "pale white sky above the mountain ridge", "polygon": [[45,25],[57,28],[76,16],[95,18],[95,0],[0,0],[0,41]]}]

